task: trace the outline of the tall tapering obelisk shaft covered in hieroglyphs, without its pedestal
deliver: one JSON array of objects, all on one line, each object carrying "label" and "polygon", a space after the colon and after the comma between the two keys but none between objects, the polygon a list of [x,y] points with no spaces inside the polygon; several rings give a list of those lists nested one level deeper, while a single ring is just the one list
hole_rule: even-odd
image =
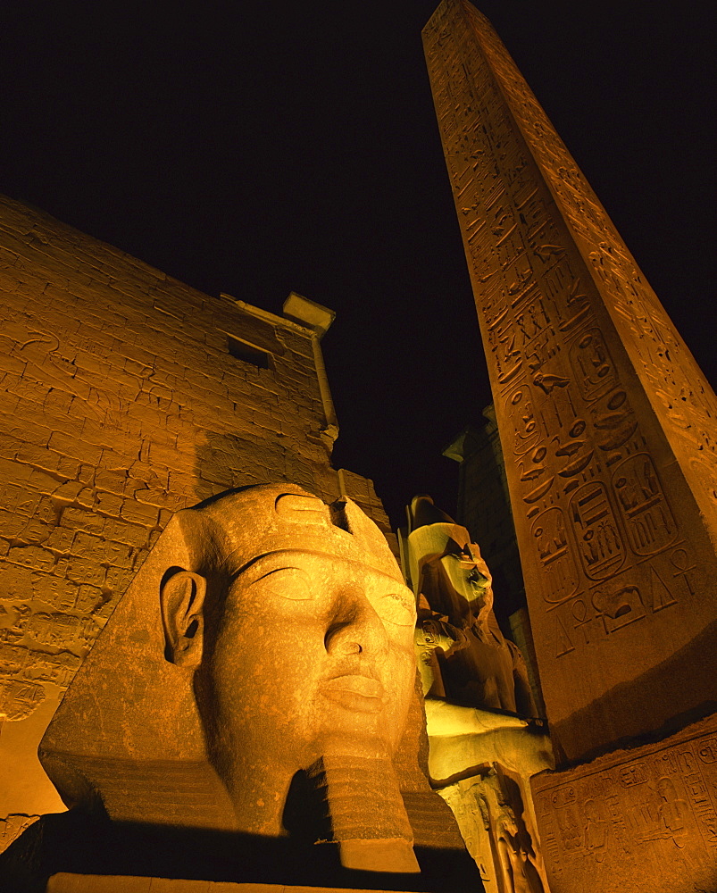
[{"label": "tall tapering obelisk shaft covered in hieroglyphs, without its pedestal", "polygon": [[423,36],[546,710],[579,759],[714,703],[717,400],[488,21],[446,0]]}]

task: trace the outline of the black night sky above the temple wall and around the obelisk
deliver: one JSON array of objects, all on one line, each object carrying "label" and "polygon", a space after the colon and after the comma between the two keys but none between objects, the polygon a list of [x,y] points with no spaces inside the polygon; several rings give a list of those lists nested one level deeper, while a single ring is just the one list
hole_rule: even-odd
[{"label": "black night sky above the temple wall and around the obelisk", "polygon": [[[421,50],[438,0],[14,0],[0,192],[218,295],[338,313],[337,465],[454,510],[490,401]],[[707,377],[713,4],[483,0]]]}]

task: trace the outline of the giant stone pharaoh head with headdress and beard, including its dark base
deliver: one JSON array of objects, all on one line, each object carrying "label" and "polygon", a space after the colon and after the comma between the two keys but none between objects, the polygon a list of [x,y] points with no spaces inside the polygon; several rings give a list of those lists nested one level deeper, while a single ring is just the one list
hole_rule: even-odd
[{"label": "giant stone pharaoh head with headdress and beard, including its dark base", "polygon": [[350,500],[279,484],[177,513],[42,741],[71,811],[8,850],[15,889],[58,871],[475,889],[421,771],[414,623]]}]

